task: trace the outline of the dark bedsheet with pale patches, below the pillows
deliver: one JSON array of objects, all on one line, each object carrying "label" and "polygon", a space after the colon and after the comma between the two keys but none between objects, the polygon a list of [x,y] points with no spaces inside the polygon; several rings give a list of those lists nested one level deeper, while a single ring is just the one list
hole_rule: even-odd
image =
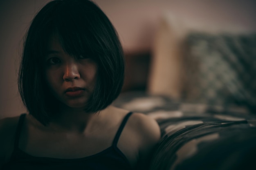
[{"label": "dark bedsheet with pale patches, below the pillows", "polygon": [[114,106],[153,117],[162,138],[150,170],[240,170],[255,167],[256,114],[237,106],[175,101],[122,93]]}]

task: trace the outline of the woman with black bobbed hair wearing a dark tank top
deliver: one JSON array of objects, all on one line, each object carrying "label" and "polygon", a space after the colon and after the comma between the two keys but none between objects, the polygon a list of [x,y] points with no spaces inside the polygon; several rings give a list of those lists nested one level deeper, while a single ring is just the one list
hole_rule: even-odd
[{"label": "woman with black bobbed hair wearing a dark tank top", "polygon": [[96,4],[46,4],[29,27],[20,65],[28,114],[0,121],[0,169],[146,169],[159,126],[111,106],[123,80],[121,44]]}]

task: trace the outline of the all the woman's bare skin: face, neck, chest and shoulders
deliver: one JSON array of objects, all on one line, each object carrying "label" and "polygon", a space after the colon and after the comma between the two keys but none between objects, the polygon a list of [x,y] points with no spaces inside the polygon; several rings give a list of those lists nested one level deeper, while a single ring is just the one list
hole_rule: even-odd
[{"label": "all the woman's bare skin: face, neck, chest and shoulders", "polygon": [[[94,91],[97,64],[86,56],[68,55],[56,37],[50,40],[48,52],[45,81],[61,107],[48,126],[27,115],[19,148],[36,157],[65,159],[87,157],[109,148],[129,111],[108,106],[96,114],[84,113],[86,102]],[[18,117],[0,120],[0,139],[4,139],[0,140],[0,168],[10,159],[17,124]],[[134,113],[128,119],[117,147],[133,168],[144,169],[141,167],[148,164],[148,156],[159,138],[157,122],[142,113]]]}]

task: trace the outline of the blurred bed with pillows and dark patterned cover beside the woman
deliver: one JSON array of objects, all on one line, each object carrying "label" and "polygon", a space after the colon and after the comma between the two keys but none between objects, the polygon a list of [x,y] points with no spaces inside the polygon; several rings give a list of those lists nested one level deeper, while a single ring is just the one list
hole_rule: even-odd
[{"label": "blurred bed with pillows and dark patterned cover beside the woman", "polygon": [[114,102],[158,122],[150,170],[255,167],[256,34],[164,16],[152,56],[146,91]]}]

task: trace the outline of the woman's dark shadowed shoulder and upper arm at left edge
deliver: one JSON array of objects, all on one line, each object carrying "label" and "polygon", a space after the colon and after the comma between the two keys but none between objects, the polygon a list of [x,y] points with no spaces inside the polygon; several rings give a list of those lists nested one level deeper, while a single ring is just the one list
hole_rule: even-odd
[{"label": "woman's dark shadowed shoulder and upper arm at left edge", "polygon": [[6,161],[13,149],[19,116],[0,119],[0,165]]}]

